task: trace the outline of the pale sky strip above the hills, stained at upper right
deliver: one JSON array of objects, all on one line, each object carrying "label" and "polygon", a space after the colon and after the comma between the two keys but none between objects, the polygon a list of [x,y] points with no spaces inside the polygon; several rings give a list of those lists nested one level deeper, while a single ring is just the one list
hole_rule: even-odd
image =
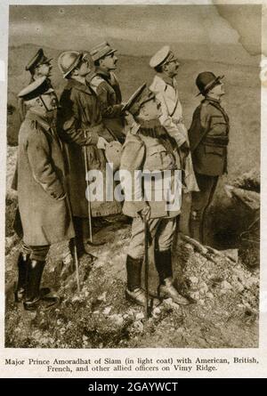
[{"label": "pale sky strip above the hills, stained at upper right", "polygon": [[[239,26],[247,22],[245,32],[255,44],[259,14],[247,9],[242,20],[240,10],[232,6],[231,17],[236,15]],[[224,14],[223,9],[219,11],[221,14],[209,5],[12,5],[10,44],[34,43],[59,49],[75,44],[82,48],[107,38],[136,43],[238,44],[239,32],[223,18],[229,7],[224,8]]]}]

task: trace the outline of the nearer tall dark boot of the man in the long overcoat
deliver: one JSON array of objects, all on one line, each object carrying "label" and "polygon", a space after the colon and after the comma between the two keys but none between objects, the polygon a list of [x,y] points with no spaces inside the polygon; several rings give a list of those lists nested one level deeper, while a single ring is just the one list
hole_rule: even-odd
[{"label": "nearer tall dark boot of the man in the long overcoat", "polygon": [[40,300],[49,302],[49,306],[59,301],[56,295],[50,295],[49,287],[40,289],[45,262],[30,260],[28,263],[28,282],[26,289],[26,297],[23,303],[24,309],[27,311],[36,311]]}]

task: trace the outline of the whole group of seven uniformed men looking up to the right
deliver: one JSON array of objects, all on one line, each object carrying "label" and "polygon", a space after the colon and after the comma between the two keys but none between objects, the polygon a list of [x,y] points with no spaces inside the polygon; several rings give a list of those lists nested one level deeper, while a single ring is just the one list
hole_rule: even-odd
[{"label": "whole group of seven uniformed men looking up to the right", "polygon": [[205,243],[206,210],[218,177],[226,171],[229,119],[220,103],[223,77],[207,71],[198,75],[196,85],[203,100],[188,131],[175,79],[179,62],[170,47],[164,46],[150,59],[155,70],[150,87],[142,85],[126,102],[114,73],[116,52],[104,42],[90,53],[61,53],[58,67],[67,85],[60,98],[50,79],[52,60],[42,49],[26,67],[31,80],[18,95],[22,124],[15,182],[22,226],[15,300],[23,302],[26,310],[57,300],[49,288],[40,287],[49,247],[69,240],[71,252],[75,246],[77,255],[90,256],[88,216],[105,223],[110,214],[121,212],[133,218],[126,298],[146,303],[145,221],[154,244],[158,297],[189,303],[173,281],[172,244],[182,209],[168,211],[164,200],[146,201],[142,183],[137,185],[138,198],[135,183],[132,200],[121,204],[103,198],[88,206],[86,172],[97,169],[105,177],[105,152],[113,141],[122,145],[120,169],[133,174],[133,180],[136,170],[181,170],[182,196],[191,196],[190,234]]}]

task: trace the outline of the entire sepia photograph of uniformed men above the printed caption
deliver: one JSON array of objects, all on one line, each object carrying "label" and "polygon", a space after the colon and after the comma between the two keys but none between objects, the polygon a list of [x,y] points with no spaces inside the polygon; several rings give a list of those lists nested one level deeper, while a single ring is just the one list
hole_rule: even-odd
[{"label": "entire sepia photograph of uniformed men above the printed caption", "polygon": [[259,347],[262,12],[9,5],[5,349]]}]

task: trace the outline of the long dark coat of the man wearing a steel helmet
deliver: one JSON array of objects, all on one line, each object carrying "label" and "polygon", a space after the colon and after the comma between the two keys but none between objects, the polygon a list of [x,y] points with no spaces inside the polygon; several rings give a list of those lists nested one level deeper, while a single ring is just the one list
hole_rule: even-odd
[{"label": "long dark coat of the man wearing a steel helmet", "polygon": [[[85,158],[88,171],[101,171],[105,192],[107,160],[104,151],[97,149],[97,142],[100,136],[107,141],[114,141],[114,138],[102,124],[99,101],[88,85],[70,79],[61,94],[60,104],[57,126],[61,140],[65,142],[72,213],[77,217],[88,217]],[[93,217],[120,212],[120,203],[115,199],[107,201],[105,195],[102,200],[91,202]]]}]

